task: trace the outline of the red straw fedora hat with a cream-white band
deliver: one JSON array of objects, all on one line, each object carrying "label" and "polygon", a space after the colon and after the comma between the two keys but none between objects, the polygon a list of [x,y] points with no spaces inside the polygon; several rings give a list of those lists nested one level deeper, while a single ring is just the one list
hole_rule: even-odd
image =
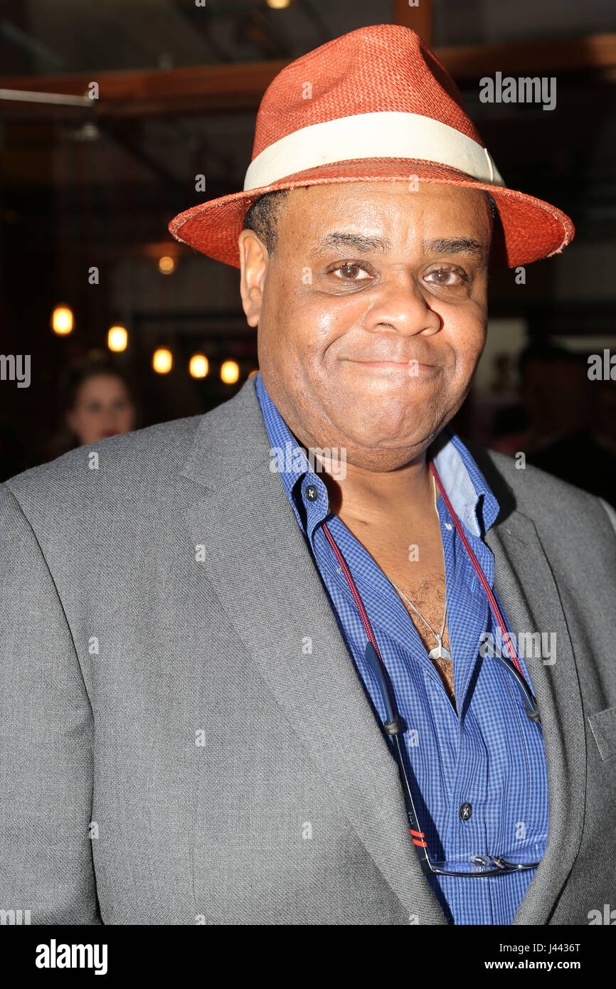
[{"label": "red straw fedora hat with a cream-white band", "polygon": [[415,176],[486,190],[509,267],[550,257],[572,240],[561,210],[505,186],[449,73],[419,35],[393,24],[342,35],[279,72],[261,100],[243,191],[179,214],[169,230],[238,268],[237,237],[265,193]]}]

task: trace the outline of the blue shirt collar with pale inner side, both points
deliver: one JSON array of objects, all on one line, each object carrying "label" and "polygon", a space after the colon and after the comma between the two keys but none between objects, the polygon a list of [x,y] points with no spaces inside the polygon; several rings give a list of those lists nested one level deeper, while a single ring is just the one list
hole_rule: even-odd
[{"label": "blue shirt collar with pale inner side, both points", "polygon": [[[255,387],[270,438],[270,470],[280,473],[298,520],[311,536],[318,522],[329,514],[327,489],[269,397],[260,372]],[[444,427],[431,447],[432,461],[454,511],[471,535],[483,538],[499,510],[484,475],[450,426]],[[318,467],[318,462],[314,467]],[[303,510],[297,504],[298,492],[302,495]]]}]

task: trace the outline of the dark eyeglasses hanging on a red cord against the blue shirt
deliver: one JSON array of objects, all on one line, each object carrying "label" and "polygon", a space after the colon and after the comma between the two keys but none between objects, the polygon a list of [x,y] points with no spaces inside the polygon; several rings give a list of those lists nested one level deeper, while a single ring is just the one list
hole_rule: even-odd
[{"label": "dark eyeglasses hanging on a red cord against the blue shirt", "polygon": [[[519,663],[519,659],[515,654],[515,651],[511,645],[511,638],[507,632],[507,628],[504,623],[504,619],[498,607],[498,603],[492,593],[491,587],[485,579],[484,571],[482,570],[475,553],[467,539],[467,536],[462,528],[462,524],[453,509],[451,501],[449,500],[447,494],[443,489],[441,484],[441,479],[438,476],[438,472],[434,467],[433,463],[430,463],[430,470],[434,475],[436,484],[438,485],[439,491],[443,496],[443,500],[447,506],[447,509],[453,519],[456,530],[462,539],[464,547],[469,554],[469,558],[476,574],[478,575],[484,591],[489,602],[492,614],[498,623],[500,628],[500,633],[508,650],[511,652],[511,659],[505,659],[503,656],[494,654],[494,659],[496,659],[502,668],[513,677],[518,689],[522,695],[524,702],[524,707],[526,713],[531,721],[540,723],[539,709],[537,706],[537,701],[533,696],[532,692],[528,688],[524,675],[522,674],[522,668]],[[504,855],[472,855],[470,858],[460,860],[460,861],[443,861],[436,862],[431,861],[427,853],[427,843],[425,841],[425,834],[421,830],[419,825],[419,819],[414,806],[414,801],[412,797],[412,790],[410,782],[408,779],[408,774],[406,772],[406,767],[404,764],[404,759],[402,755],[402,744],[400,741],[401,726],[396,712],[396,705],[390,684],[388,681],[388,675],[381,659],[379,653],[379,646],[377,645],[377,640],[375,634],[372,630],[372,625],[370,624],[370,619],[364,607],[364,602],[361,599],[360,593],[355,585],[351,572],[348,568],[346,560],[342,556],[337,543],[335,542],[333,536],[331,535],[329,529],[325,522],[323,522],[323,531],[325,536],[336,556],[338,563],[342,569],[342,573],[349,584],[351,593],[355,603],[357,604],[362,624],[368,636],[368,643],[366,645],[366,662],[371,669],[372,673],[375,675],[377,683],[379,685],[379,691],[383,698],[383,704],[386,711],[386,721],[383,726],[386,734],[390,737],[393,744],[394,756],[396,758],[396,764],[400,774],[400,781],[402,783],[402,790],[404,794],[404,803],[406,806],[406,814],[408,817],[409,831],[412,839],[412,843],[417,852],[419,862],[424,872],[433,872],[443,875],[497,875],[503,872],[517,871],[518,869],[524,868],[535,868],[539,861],[541,860],[547,842],[547,836],[540,836],[537,841],[530,846],[525,847],[525,852],[520,854],[517,851],[513,851],[509,854]]]}]

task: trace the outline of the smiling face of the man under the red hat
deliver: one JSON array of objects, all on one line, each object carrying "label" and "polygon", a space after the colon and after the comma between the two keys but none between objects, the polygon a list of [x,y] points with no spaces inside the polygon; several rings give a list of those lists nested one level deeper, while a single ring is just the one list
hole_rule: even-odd
[{"label": "smiling face of the man under the red hat", "polygon": [[369,470],[423,452],[484,348],[490,236],[481,191],[404,182],[294,189],[271,257],[240,234],[261,375],[305,446]]}]

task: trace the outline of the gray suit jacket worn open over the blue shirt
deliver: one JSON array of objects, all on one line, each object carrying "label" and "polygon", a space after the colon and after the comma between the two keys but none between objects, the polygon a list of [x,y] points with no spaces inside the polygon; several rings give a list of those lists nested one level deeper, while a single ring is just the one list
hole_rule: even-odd
[{"label": "gray suit jacket worn open over the blue shirt", "polygon": [[[515,923],[583,925],[616,907],[614,513],[472,452],[512,628],[557,634],[553,666],[527,661],[550,833]],[[0,909],[445,924],[270,459],[249,379],[0,486]]]}]

